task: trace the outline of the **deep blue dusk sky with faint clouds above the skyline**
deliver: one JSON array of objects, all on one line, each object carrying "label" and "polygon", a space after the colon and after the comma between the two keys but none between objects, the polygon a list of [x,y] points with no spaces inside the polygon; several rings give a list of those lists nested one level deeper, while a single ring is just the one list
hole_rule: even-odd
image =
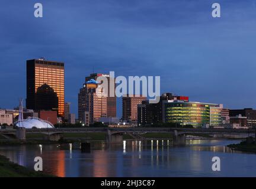
[{"label": "deep blue dusk sky with faint clouds above the skyline", "polygon": [[[34,4],[43,18],[34,17]],[[221,17],[212,17],[212,4]],[[26,60],[65,63],[77,115],[89,73],[161,76],[161,93],[256,108],[256,2],[208,0],[0,1],[0,107],[26,97]],[[117,100],[121,116],[121,99]]]}]

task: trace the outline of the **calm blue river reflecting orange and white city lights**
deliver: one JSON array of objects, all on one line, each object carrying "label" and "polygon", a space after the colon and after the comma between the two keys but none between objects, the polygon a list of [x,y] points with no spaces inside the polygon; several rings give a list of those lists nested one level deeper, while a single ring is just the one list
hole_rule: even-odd
[{"label": "calm blue river reflecting orange and white city lights", "polygon": [[[231,140],[124,141],[107,145],[91,142],[81,152],[79,144],[0,146],[0,154],[34,168],[43,158],[43,171],[59,177],[255,177],[256,154],[232,151]],[[220,171],[212,171],[212,158],[220,158]]]}]

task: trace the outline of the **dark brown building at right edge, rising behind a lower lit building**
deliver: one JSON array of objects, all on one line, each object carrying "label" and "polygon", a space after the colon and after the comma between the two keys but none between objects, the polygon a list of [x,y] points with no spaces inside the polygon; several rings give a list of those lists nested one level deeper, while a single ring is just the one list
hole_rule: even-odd
[{"label": "dark brown building at right edge, rising behind a lower lit building", "polygon": [[242,117],[247,117],[248,127],[256,126],[256,110],[252,108],[229,110],[230,117],[235,117],[237,115],[241,115]]}]

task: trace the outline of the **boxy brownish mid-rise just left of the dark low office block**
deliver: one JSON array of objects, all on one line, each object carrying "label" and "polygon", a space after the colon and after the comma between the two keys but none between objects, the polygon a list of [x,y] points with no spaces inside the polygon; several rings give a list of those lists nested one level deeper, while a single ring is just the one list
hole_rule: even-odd
[{"label": "boxy brownish mid-rise just left of the dark low office block", "polygon": [[126,97],[123,96],[123,120],[127,122],[137,122],[137,105],[140,105],[143,100],[146,100],[145,96],[133,95],[129,96],[127,94]]}]

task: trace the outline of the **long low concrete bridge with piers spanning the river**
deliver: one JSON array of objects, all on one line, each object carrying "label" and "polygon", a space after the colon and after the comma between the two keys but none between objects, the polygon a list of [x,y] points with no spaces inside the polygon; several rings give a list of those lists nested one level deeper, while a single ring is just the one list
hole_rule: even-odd
[{"label": "long low concrete bridge with piers spanning the river", "polygon": [[123,141],[124,133],[171,133],[174,136],[174,144],[185,144],[185,135],[241,135],[255,136],[255,129],[211,129],[211,128],[45,128],[45,129],[1,129],[2,136],[16,136],[25,139],[25,133],[43,133],[46,139],[58,141],[62,133],[93,133],[103,132],[106,134],[106,142]]}]

